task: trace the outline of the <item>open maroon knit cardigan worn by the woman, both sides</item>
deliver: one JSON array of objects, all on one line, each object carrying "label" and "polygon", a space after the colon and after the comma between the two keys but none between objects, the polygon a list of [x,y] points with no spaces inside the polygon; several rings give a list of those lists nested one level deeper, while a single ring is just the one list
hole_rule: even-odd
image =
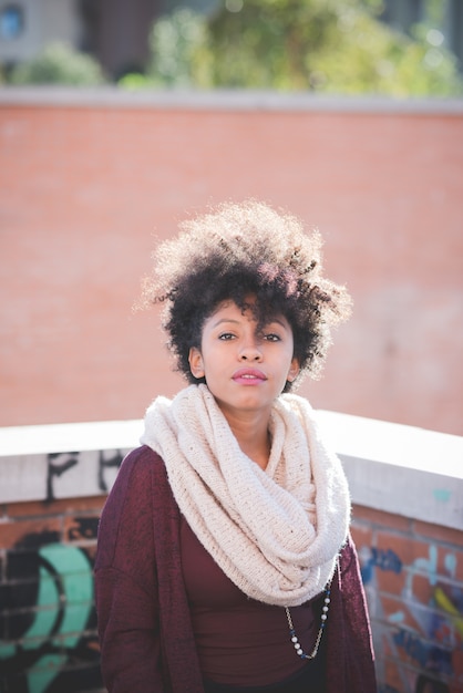
[{"label": "open maroon knit cardigan worn by the woman, both sides", "polygon": [[[95,560],[104,684],[111,693],[204,693],[182,577],[179,510],[161,457],[138,447],[104,506]],[[331,587],[323,641],[327,693],[375,693],[356,549]]]}]

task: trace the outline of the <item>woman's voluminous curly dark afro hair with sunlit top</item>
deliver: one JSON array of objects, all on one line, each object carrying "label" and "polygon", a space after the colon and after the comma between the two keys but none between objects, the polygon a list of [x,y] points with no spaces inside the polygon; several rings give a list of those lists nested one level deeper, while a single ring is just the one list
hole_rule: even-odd
[{"label": "woman's voluminous curly dark afro hair with sunlit top", "polygon": [[[176,370],[189,383],[204,382],[189,370],[189,349],[200,348],[204,321],[232,300],[243,311],[253,310],[259,328],[285,316],[300,365],[297,381],[305,374],[318,377],[331,328],[349,317],[351,306],[344,287],[321,276],[318,231],[306,234],[292,215],[253,199],[224,203],[179,229],[157,247],[143,290],[144,306],[165,303],[162,324]],[[286,391],[290,387],[287,383]]]}]

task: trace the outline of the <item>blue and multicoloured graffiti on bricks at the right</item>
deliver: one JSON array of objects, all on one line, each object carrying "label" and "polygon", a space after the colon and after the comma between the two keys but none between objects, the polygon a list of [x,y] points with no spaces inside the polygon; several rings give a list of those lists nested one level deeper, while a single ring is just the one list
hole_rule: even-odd
[{"label": "blue and multicoloured graffiti on bricks at the right", "polygon": [[[429,545],[429,556],[415,558],[411,565],[392,549],[364,547],[359,551],[367,591],[370,586],[379,600],[375,618],[389,623],[389,628],[377,629],[381,651],[385,641],[398,663],[400,687],[384,684],[380,693],[449,693],[454,685],[463,690],[459,664],[463,654],[463,590],[455,580],[456,556],[451,550],[443,555],[445,575],[442,570],[439,575],[440,550],[442,547]],[[395,602],[384,604],[377,571],[403,578]],[[421,587],[424,580],[428,589],[416,591],[415,578],[422,581]]]}]

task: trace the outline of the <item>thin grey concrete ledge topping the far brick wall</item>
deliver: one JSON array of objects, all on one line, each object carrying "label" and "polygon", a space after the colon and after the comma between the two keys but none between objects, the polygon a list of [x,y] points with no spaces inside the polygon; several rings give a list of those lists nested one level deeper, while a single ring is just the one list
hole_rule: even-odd
[{"label": "thin grey concrete ledge topping the far brick wall", "polygon": [[463,99],[337,96],[254,90],[141,90],[116,86],[3,86],[1,106],[183,108],[195,111],[296,111],[462,115]]}]

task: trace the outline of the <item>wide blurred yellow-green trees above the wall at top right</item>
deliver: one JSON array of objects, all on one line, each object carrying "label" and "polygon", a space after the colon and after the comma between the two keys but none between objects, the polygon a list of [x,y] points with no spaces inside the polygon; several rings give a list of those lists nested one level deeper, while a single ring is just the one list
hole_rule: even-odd
[{"label": "wide blurred yellow-green trees above the wall at top right", "polygon": [[155,22],[137,86],[462,95],[442,33],[423,24],[408,37],[380,10],[379,0],[222,0],[207,17],[181,8]]}]

